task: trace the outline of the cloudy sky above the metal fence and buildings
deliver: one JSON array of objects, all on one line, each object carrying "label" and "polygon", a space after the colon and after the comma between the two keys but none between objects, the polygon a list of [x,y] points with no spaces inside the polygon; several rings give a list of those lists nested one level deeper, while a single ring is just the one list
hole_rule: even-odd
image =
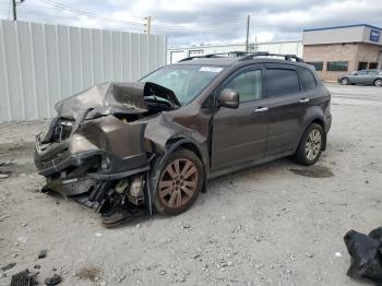
[{"label": "cloudy sky above the metal fence and buildings", "polygon": [[[20,0],[17,0],[20,1]],[[0,19],[12,19],[0,0]],[[168,36],[169,47],[298,40],[302,29],[348,24],[382,27],[382,0],[25,0],[17,20]]]}]

